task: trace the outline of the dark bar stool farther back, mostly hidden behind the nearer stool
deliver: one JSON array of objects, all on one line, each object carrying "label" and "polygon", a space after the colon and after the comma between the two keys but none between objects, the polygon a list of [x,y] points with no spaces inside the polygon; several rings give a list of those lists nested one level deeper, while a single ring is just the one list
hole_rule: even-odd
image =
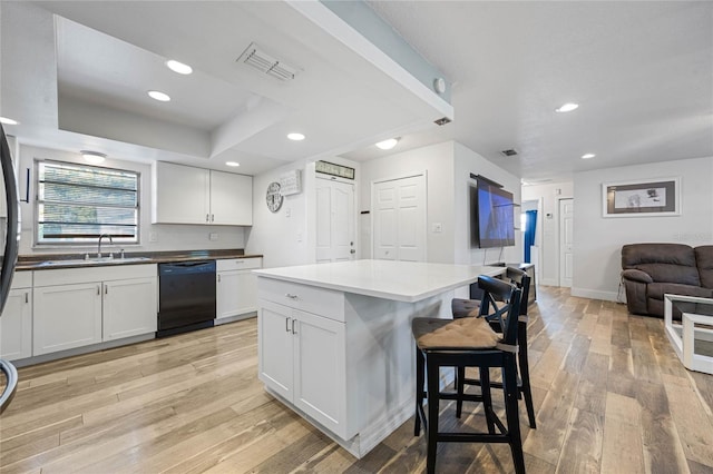
[{"label": "dark bar stool farther back, mostly hidden behind the nearer stool", "polygon": [[[537,422],[535,419],[535,406],[533,404],[533,389],[530,388],[530,368],[529,362],[527,357],[527,324],[529,318],[527,316],[527,302],[530,293],[530,277],[526,271],[519,268],[510,268],[508,267],[506,271],[506,279],[508,279],[512,285],[516,285],[522,292],[522,302],[520,304],[520,315],[518,317],[518,346],[519,350],[517,354],[518,357],[518,398],[525,399],[525,407],[527,408],[527,417],[529,421],[529,425],[531,428],[537,428]],[[468,317],[468,316],[478,316],[480,307],[480,300],[477,299],[460,299],[453,298],[451,302],[451,309],[453,313],[453,318],[459,317]],[[499,322],[491,325],[492,328],[501,333],[501,325]],[[458,384],[458,393],[463,393],[463,385],[480,385],[480,381],[477,378],[466,378],[465,368],[458,371],[456,375],[456,381]],[[482,375],[481,375],[482,378]],[[491,387],[499,388],[501,384],[499,382],[491,382]],[[460,398],[458,401],[456,416],[460,417],[462,409],[462,402],[465,398]]]}]

